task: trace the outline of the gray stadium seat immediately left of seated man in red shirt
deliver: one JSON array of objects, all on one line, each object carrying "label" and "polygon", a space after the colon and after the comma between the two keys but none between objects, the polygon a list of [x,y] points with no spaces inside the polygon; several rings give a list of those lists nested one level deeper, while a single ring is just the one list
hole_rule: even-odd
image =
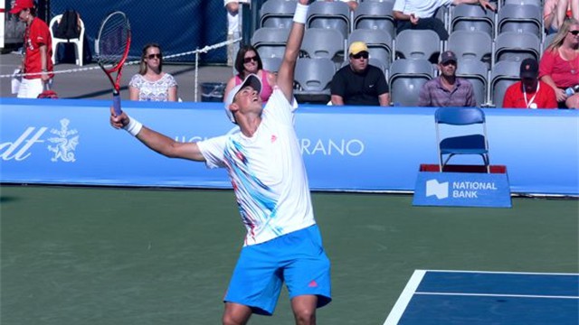
[{"label": "gray stadium seat immediately left of seated man in red shirt", "polygon": [[503,98],[508,86],[520,79],[520,67],[520,62],[503,60],[497,62],[490,71],[490,99],[495,107],[503,107]]}]

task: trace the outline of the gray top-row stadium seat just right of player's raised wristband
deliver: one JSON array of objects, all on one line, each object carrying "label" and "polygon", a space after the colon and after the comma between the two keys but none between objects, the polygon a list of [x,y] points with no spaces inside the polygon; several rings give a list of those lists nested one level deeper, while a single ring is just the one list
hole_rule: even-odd
[{"label": "gray top-row stadium seat just right of player's raised wristband", "polygon": [[350,33],[350,8],[341,1],[316,1],[308,7],[306,28],[337,30],[347,38]]}]

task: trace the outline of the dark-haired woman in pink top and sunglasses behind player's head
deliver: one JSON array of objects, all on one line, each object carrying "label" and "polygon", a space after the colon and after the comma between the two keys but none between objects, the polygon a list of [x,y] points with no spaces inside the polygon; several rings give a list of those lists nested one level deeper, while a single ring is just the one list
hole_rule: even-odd
[{"label": "dark-haired woman in pink top and sunglasses behind player's head", "polygon": [[237,85],[241,85],[242,80],[246,79],[247,76],[255,74],[260,77],[261,84],[263,85],[260,96],[261,102],[265,105],[273,92],[276,77],[270,71],[263,69],[260,53],[258,53],[252,45],[243,45],[237,52],[237,57],[235,58],[235,70],[238,71],[238,74],[233,76],[227,82],[223,98],[227,98],[227,94],[229,94],[231,89]]}]

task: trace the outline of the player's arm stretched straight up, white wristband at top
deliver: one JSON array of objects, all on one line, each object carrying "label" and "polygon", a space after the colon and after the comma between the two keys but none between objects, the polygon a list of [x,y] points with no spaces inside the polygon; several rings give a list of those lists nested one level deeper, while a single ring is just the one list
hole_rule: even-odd
[{"label": "player's arm stretched straight up, white wristband at top", "polygon": [[304,38],[306,28],[306,18],[308,17],[308,0],[299,0],[296,6],[296,13],[293,16],[293,23],[289,31],[286,51],[283,54],[280,70],[278,70],[278,87],[288,101],[293,98],[293,75],[296,70],[296,61],[301,48],[301,41]]}]

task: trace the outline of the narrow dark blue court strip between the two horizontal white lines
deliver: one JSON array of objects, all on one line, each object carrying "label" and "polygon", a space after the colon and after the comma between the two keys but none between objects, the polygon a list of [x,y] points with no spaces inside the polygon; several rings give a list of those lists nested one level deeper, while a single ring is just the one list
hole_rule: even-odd
[{"label": "narrow dark blue court strip between the two horizontal white lines", "polygon": [[[579,276],[427,272],[416,291],[578,297]],[[577,303],[577,300],[574,301]],[[579,322],[575,321],[574,324]]]}]

